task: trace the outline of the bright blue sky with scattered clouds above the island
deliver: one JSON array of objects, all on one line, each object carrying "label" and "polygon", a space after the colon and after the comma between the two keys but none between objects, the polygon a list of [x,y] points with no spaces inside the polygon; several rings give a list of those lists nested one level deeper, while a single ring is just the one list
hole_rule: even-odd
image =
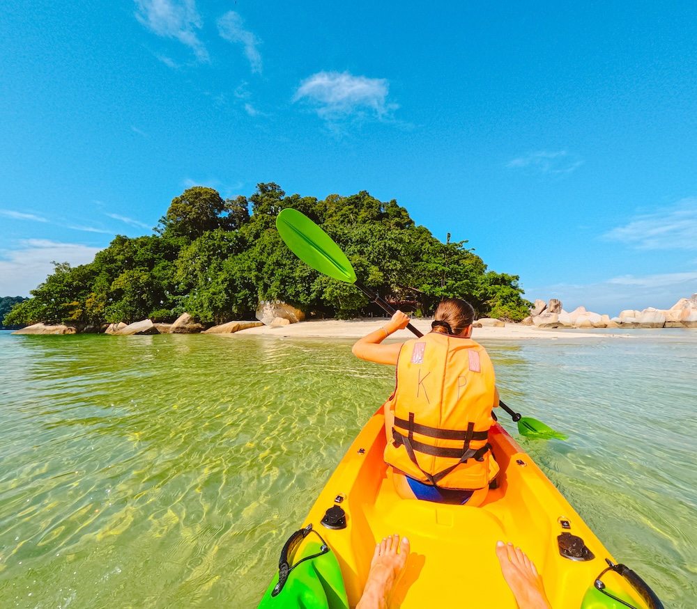
[{"label": "bright blue sky with scattered clouds above the island", "polygon": [[697,5],[455,5],[6,0],[0,296],[271,181],[394,198],[567,310],[697,292]]}]

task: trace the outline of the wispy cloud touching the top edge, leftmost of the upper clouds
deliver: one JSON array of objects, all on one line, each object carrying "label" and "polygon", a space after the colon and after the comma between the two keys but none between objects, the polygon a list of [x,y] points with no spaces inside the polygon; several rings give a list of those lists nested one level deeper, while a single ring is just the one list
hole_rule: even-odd
[{"label": "wispy cloud touching the top edge, leftmost of the upper clouds", "polygon": [[196,31],[201,17],[194,0],[135,0],[136,19],[163,38],[174,38],[190,47],[199,61],[210,61],[208,51]]}]

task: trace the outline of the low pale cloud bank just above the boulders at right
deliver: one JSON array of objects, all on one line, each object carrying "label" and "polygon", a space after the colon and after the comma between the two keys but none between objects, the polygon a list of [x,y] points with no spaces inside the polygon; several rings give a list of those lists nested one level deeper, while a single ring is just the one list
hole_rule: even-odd
[{"label": "low pale cloud bank just above the boulders at right", "polygon": [[658,275],[623,275],[588,285],[558,283],[526,288],[528,300],[557,298],[565,310],[584,306],[589,311],[611,317],[621,310],[648,307],[671,308],[681,298],[697,292],[697,271]]}]

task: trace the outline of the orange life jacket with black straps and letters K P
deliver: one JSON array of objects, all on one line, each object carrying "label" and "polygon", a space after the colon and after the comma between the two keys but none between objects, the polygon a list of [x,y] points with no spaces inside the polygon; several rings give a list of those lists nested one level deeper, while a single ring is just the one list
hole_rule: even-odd
[{"label": "orange life jacket with black straps and letters K P", "polygon": [[385,463],[445,489],[483,489],[498,473],[487,442],[496,377],[470,338],[431,332],[399,352],[395,413]]}]

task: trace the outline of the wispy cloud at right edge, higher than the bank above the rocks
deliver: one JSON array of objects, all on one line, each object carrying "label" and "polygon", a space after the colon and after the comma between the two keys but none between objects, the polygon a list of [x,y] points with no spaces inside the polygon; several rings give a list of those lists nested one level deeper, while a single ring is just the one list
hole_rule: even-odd
[{"label": "wispy cloud at right edge, higher than the bank above the rocks", "polygon": [[604,238],[643,250],[697,250],[697,199],[683,199],[636,216],[625,226],[606,232]]}]

